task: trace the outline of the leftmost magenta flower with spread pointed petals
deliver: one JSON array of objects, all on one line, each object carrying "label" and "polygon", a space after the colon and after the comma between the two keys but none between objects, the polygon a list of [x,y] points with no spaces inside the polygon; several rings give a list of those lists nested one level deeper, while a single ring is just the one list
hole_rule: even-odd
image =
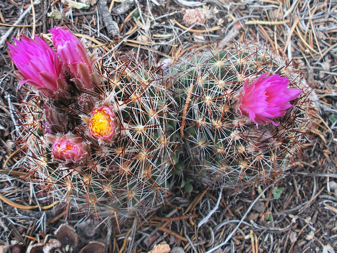
[{"label": "leftmost magenta flower with spread pointed petals", "polygon": [[35,40],[26,36],[21,41],[14,39],[16,46],[9,44],[9,56],[19,69],[21,80],[19,88],[29,83],[45,95],[53,96],[61,89],[58,83],[65,83],[62,76],[63,64],[57,54],[41,38]]}]

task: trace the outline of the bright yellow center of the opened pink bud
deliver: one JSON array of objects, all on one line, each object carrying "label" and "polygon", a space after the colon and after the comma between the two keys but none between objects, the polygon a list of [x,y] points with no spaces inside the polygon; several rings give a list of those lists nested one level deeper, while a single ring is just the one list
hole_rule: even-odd
[{"label": "bright yellow center of the opened pink bud", "polygon": [[90,128],[96,136],[109,135],[111,133],[111,118],[108,112],[105,110],[96,110],[96,112],[91,116]]}]

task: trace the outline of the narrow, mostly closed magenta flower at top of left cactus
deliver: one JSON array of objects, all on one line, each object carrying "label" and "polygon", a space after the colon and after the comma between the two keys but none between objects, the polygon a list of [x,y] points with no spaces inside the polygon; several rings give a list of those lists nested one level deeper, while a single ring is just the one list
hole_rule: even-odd
[{"label": "narrow, mostly closed magenta flower at top of left cactus", "polygon": [[60,60],[70,69],[72,77],[79,79],[83,86],[91,89],[92,85],[92,66],[87,51],[81,41],[71,33],[67,27],[54,27],[49,30],[53,34],[53,44]]}]

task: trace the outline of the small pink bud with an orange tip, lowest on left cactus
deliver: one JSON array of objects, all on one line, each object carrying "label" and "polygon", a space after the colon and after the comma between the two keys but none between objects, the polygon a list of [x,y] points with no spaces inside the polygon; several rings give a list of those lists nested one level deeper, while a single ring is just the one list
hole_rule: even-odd
[{"label": "small pink bud with an orange tip, lowest on left cactus", "polygon": [[55,160],[66,163],[80,163],[90,156],[90,148],[81,137],[64,135],[54,140],[52,153]]}]

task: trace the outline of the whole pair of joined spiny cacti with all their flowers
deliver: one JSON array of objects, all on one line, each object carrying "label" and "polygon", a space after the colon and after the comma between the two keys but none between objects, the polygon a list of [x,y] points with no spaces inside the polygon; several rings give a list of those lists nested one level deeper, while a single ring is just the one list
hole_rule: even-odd
[{"label": "whole pair of joined spiny cacti with all their flowers", "polygon": [[38,37],[8,44],[20,86],[37,91],[23,103],[20,165],[38,200],[127,218],[161,203],[171,174],[238,187],[300,153],[310,91],[261,44],[198,49],[162,72],[133,59],[97,66],[69,29],[51,33],[56,52]]}]

